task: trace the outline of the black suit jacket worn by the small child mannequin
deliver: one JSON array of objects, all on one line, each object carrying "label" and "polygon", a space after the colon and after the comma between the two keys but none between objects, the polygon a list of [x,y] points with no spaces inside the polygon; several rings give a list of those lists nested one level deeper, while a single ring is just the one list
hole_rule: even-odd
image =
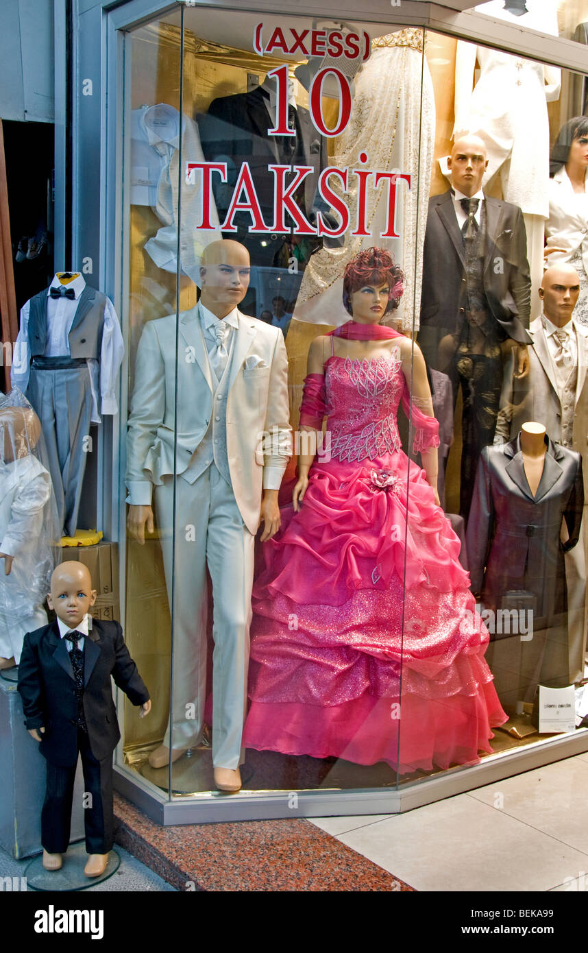
[{"label": "black suit jacket worn by the small child mannequin", "polygon": [[[120,739],[112,700],[111,676],[133,705],[149,700],[123,639],[118,622],[92,620],[84,640],[84,714],[91,753],[96,760],[112,756]],[[58,767],[77,760],[77,702],[75,680],[65,639],[57,622],[25,636],[18,667],[18,691],[27,728],[45,727],[41,754]]]}]

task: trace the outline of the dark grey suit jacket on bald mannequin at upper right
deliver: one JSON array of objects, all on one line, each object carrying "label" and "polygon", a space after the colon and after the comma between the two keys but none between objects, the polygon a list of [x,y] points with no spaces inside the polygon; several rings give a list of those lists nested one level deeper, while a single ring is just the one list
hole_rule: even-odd
[{"label": "dark grey suit jacket on bald mannequin at upper right", "polygon": [[[507,337],[529,344],[531,278],[527,234],[517,205],[486,196],[486,248],[483,288],[492,316]],[[427,363],[437,362],[439,341],[456,333],[465,320],[467,285],[465,249],[451,191],[429,201],[423,250],[418,343]]]}]

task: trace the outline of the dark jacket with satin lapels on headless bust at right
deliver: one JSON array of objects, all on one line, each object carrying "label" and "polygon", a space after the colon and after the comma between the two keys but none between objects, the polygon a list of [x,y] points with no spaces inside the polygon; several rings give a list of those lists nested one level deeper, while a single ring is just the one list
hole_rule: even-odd
[{"label": "dark jacket with satin lapels on headless bust at right", "polygon": [[[484,447],[468,518],[467,550],[472,590],[484,605],[501,608],[510,590],[537,598],[537,616],[567,609],[563,554],[578,542],[584,503],[581,456],[548,438],[534,497],[525,475],[520,437]],[[568,529],[561,543],[561,520]]]}]

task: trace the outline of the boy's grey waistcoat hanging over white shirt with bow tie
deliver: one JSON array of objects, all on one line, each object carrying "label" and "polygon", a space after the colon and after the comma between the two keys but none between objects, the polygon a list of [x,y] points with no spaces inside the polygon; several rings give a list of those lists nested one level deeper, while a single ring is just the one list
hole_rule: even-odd
[{"label": "boy's grey waistcoat hanging over white shirt with bow tie", "polygon": [[[30,298],[29,348],[31,357],[45,354],[47,347],[47,289]],[[70,356],[100,359],[106,297],[88,285],[80,294],[71,322]]]}]

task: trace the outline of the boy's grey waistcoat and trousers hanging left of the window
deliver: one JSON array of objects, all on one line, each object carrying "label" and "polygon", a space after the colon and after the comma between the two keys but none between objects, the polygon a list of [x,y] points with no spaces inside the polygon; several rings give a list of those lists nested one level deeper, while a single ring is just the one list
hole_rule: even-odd
[{"label": "boy's grey waistcoat and trousers hanging left of the window", "polygon": [[68,340],[70,354],[46,357],[48,289],[30,298],[27,397],[43,428],[51,480],[61,526],[67,536],[77,527],[90,434],[91,375],[88,360],[100,359],[107,298],[84,288],[78,299]]}]

